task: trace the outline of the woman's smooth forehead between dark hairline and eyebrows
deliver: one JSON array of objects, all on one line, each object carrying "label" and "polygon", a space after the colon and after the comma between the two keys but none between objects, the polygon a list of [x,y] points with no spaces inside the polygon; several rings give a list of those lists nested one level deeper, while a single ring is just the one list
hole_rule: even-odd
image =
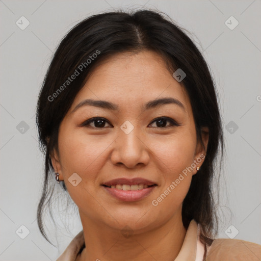
[{"label": "woman's smooth forehead between dark hairline and eyebrows", "polygon": [[76,95],[72,108],[83,99],[108,100],[119,107],[133,106],[147,101],[173,97],[180,100],[186,111],[190,101],[185,90],[167,69],[166,62],[154,51],[137,54],[120,53],[100,63]]}]

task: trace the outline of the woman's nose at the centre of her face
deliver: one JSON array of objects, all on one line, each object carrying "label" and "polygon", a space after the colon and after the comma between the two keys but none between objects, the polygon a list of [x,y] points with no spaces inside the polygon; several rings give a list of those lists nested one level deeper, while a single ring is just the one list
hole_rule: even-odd
[{"label": "woman's nose at the centre of her face", "polygon": [[145,166],[149,162],[149,147],[144,136],[134,127],[131,133],[119,129],[118,138],[114,142],[111,161],[114,165],[125,165],[126,168]]}]

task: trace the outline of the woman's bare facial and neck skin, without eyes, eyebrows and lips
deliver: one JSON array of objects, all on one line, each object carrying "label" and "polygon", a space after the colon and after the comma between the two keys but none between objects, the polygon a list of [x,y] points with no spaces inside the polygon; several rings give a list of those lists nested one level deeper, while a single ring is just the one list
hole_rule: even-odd
[{"label": "woman's bare facial and neck skin, without eyes, eyebrows and lips", "polygon": [[[163,97],[178,99],[185,110],[173,103],[142,109]],[[83,106],[72,112],[87,98],[113,102],[119,111]],[[108,122],[101,128],[97,122],[80,126],[92,117]],[[169,117],[179,126],[163,120],[161,127],[154,121],[158,117]],[[120,128],[126,120],[134,127],[129,134]],[[202,138],[206,149],[206,128]],[[204,146],[197,142],[189,96],[158,54],[121,53],[96,67],[61,122],[58,151],[51,154],[59,179],[79,207],[86,248],[77,261],[174,260],[186,235],[182,201],[203,160],[157,206],[152,200],[205,155]],[[72,173],[82,178],[76,187],[68,181]],[[142,177],[158,186],[141,200],[124,202],[101,186],[120,177]],[[129,238],[121,233],[126,225],[132,229]]]}]

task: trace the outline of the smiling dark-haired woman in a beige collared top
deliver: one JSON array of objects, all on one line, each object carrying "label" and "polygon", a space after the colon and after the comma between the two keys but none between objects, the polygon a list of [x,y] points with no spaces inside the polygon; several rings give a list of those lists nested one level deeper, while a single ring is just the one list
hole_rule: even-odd
[{"label": "smiling dark-haired woman in a beige collared top", "polygon": [[54,174],[83,225],[58,261],[261,258],[257,244],[215,239],[212,180],[224,147],[215,86],[163,14],[103,13],[70,30],[45,76],[37,124],[40,231],[48,240]]}]

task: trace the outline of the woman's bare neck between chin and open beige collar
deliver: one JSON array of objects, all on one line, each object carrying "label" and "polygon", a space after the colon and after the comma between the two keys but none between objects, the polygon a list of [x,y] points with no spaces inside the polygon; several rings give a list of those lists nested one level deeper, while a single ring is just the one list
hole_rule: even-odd
[{"label": "woman's bare neck between chin and open beige collar", "polygon": [[80,261],[173,261],[186,235],[181,215],[173,216],[159,227],[142,233],[134,232],[130,237],[123,237],[120,230],[106,224],[81,219],[86,247]]}]

